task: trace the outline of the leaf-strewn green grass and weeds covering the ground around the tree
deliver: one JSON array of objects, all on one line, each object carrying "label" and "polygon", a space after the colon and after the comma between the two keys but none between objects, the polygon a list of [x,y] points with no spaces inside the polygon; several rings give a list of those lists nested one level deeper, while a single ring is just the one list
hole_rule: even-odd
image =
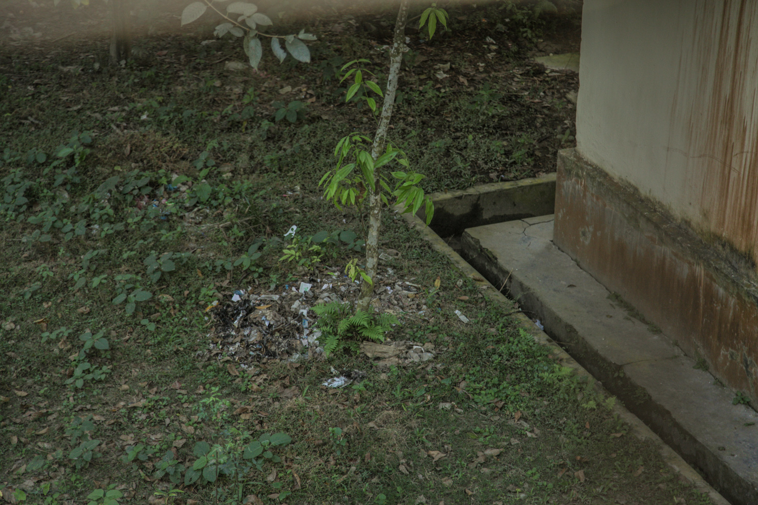
[{"label": "leaf-strewn green grass and weeds covering the ground around the tree", "polygon": [[[166,41],[142,39],[140,54]],[[452,51],[446,41],[434,51]],[[243,369],[210,354],[209,304],[317,276],[279,261],[293,223],[302,237],[362,235],[361,217],[329,207],[315,181],[334,131],[370,128],[340,104],[329,74],[351,55],[317,45],[312,67],[250,76],[210,64],[236,55],[227,42],[168,42],[183,60],[143,56],[113,69],[86,57],[80,70],[61,70],[69,53],[22,48],[2,63],[5,499],[708,503],[656,447],[626,434],[612,399],[559,366],[390,214],[381,248],[399,255],[387,266],[420,288],[387,336],[434,349],[433,360],[381,367],[345,352]],[[356,34],[341,44],[373,51]],[[105,58],[91,42],[67,50]],[[524,98],[491,76],[470,89],[437,86],[421,77],[434,67],[410,63],[394,134],[427,173],[425,189],[466,187],[491,170],[531,175],[542,133],[527,126],[547,108],[526,98],[542,100],[534,97],[555,83],[534,79]],[[518,54],[502,65],[528,67]],[[316,98],[295,123],[277,122],[270,105],[284,83]],[[501,135],[505,123],[518,128]],[[315,272],[339,272],[353,257],[329,246]],[[326,388],[333,367],[366,375]]]}]

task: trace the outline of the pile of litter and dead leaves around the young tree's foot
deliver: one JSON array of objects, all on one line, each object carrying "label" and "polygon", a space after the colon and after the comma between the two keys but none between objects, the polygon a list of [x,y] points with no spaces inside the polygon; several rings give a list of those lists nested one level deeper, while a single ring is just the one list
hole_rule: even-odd
[{"label": "pile of litter and dead leaves around the young tree's foot", "polygon": [[[400,282],[393,278],[392,270],[387,270],[388,275],[378,279],[374,307],[393,313],[399,320],[424,317],[428,309],[423,304],[419,306],[420,286]],[[237,290],[227,294],[226,301],[212,304],[206,309],[212,320],[206,356],[231,360],[243,369],[270,360],[323,359],[321,331],[315,325],[317,316],[311,307],[331,301],[354,301],[360,290],[359,284],[347,277],[340,279],[336,272],[328,270],[323,273],[324,277],[309,278],[309,282],[257,293],[252,288]],[[364,342],[361,351],[379,359],[381,366],[424,362],[435,355],[433,344],[422,346],[390,339],[384,344]]]}]

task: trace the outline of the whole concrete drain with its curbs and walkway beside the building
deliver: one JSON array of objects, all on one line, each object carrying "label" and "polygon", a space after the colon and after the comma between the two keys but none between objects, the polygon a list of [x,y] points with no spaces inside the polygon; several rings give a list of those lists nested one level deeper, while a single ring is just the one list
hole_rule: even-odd
[{"label": "whole concrete drain with its curbs and walkway beside the building", "polygon": [[631,432],[656,441],[667,463],[713,503],[758,503],[758,437],[747,429],[758,415],[732,405],[731,391],[553,245],[555,188],[552,173],[440,193],[432,196],[431,226],[423,211],[406,220],[504,312],[512,301],[501,290],[518,301],[524,328],[555,348],[563,365],[618,397]]}]

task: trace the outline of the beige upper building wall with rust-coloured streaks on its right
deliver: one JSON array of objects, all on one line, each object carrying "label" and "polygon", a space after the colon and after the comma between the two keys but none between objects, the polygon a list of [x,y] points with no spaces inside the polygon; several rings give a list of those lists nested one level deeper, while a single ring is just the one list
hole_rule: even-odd
[{"label": "beige upper building wall with rust-coloured streaks on its right", "polygon": [[758,0],[584,0],[578,151],[758,260]]}]

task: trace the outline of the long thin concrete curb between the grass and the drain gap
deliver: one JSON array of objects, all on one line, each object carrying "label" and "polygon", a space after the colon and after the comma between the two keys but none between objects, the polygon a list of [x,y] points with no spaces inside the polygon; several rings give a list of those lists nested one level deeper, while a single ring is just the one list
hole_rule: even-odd
[{"label": "long thin concrete curb between the grass and the drain gap", "polygon": [[[424,224],[423,220],[417,216],[408,214],[403,214],[403,217],[406,219],[412,229],[416,229],[419,235],[421,235],[422,238],[431,244],[432,248],[434,248],[436,251],[440,251],[442,254],[445,254],[446,257],[449,258],[450,262],[462,271],[463,275],[469,277],[470,279],[473,279],[474,282],[476,282],[476,284],[481,288],[482,293],[484,293],[484,295],[487,296],[490,301],[496,304],[500,304],[503,307],[504,313],[510,312],[513,309],[512,301],[500,293],[500,291],[498,291],[497,288],[495,288],[489,281],[487,281],[487,279],[484,279],[481,273],[475,270],[474,267],[471,267],[471,265],[468,264],[456,251],[453,251],[453,249],[450,248],[442,238],[440,238],[440,235],[437,235],[433,229]],[[502,279],[500,282],[502,282]],[[556,341],[553,341],[553,339],[550,338],[545,332],[540,332],[540,330],[534,326],[534,323],[527,316],[522,313],[515,313],[514,316],[518,318],[518,320],[521,320],[522,327],[527,332],[531,333],[531,335],[534,335],[534,338],[537,342],[550,346],[551,353],[554,356],[558,357],[563,366],[568,366],[569,368],[574,369],[575,373],[578,375],[587,376],[587,379],[591,384],[594,384],[600,391],[604,392],[602,385],[598,384],[595,381],[593,376],[587,372],[587,369],[584,369],[583,366],[581,366],[579,363],[577,363],[576,360],[569,356],[563,350],[563,348],[557,344]],[[729,505],[728,501],[725,500],[725,498],[722,497],[719,492],[713,489],[713,487],[709,485],[708,482],[706,482],[703,477],[697,473],[686,461],[684,461],[677,453],[675,453],[671,447],[663,443],[661,438],[659,438],[656,433],[650,430],[650,428],[648,428],[644,422],[641,422],[637,416],[634,416],[634,414],[632,414],[621,404],[615,405],[614,412],[628,424],[630,427],[630,434],[632,436],[636,436],[637,438],[644,440],[653,441],[653,443],[658,447],[659,453],[661,454],[663,460],[665,460],[666,463],[668,463],[669,466],[675,472],[677,472],[678,475],[681,475],[683,479],[691,482],[692,485],[694,485],[695,488],[697,488],[700,492],[708,494],[714,505]]]}]

